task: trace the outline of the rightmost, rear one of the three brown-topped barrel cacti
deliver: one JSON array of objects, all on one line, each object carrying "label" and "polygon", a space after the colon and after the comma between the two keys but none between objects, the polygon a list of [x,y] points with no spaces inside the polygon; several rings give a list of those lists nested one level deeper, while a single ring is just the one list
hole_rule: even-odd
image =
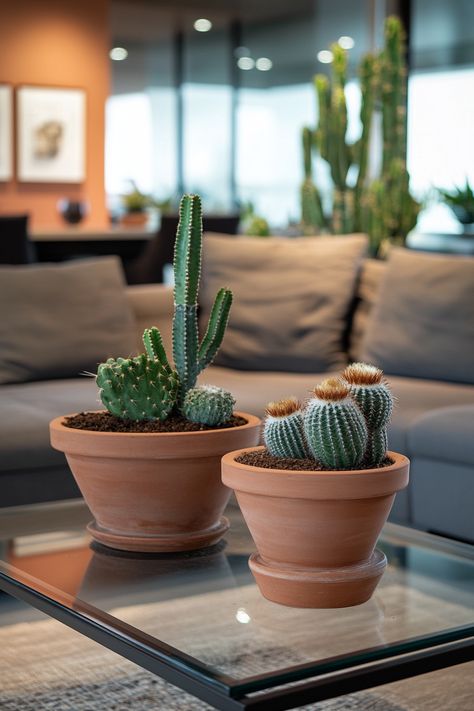
[{"label": "rightmost, rear one of the three brown-topped barrel cacti", "polygon": [[365,462],[381,464],[387,454],[387,424],[393,410],[393,396],[383,379],[383,372],[367,363],[353,363],[342,373],[351,395],[367,423],[369,438]]}]

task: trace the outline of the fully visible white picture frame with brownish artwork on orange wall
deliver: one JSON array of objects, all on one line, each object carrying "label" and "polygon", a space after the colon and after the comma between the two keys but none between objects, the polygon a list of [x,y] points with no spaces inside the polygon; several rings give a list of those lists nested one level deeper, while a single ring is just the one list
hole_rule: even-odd
[{"label": "fully visible white picture frame with brownish artwork on orange wall", "polygon": [[17,89],[17,178],[29,183],[85,179],[86,93],[83,89]]}]

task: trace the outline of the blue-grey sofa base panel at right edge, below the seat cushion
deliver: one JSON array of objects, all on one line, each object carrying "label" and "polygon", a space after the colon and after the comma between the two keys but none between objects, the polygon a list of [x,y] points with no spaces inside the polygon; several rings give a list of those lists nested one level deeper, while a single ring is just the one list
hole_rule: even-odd
[{"label": "blue-grey sofa base panel at right edge, below the seat cushion", "polygon": [[472,464],[416,457],[410,470],[415,525],[474,542],[473,489]]}]

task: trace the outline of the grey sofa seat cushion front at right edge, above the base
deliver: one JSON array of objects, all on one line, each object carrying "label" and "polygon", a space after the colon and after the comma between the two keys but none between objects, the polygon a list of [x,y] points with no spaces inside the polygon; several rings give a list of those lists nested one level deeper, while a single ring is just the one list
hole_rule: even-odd
[{"label": "grey sofa seat cushion front at right edge, above the base", "polygon": [[[427,412],[410,428],[408,448],[416,457],[472,467],[474,489],[474,403]],[[474,513],[473,513],[474,520]]]}]

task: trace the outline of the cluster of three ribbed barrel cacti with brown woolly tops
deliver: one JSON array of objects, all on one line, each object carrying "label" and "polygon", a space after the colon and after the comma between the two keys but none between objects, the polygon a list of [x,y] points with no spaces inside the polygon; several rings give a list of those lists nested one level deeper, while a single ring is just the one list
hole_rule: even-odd
[{"label": "cluster of three ribbed barrel cacti with brown woolly tops", "polygon": [[387,454],[392,409],[382,371],[353,363],[318,385],[304,409],[295,398],[270,403],[265,445],[273,456],[311,458],[328,469],[378,466]]}]

